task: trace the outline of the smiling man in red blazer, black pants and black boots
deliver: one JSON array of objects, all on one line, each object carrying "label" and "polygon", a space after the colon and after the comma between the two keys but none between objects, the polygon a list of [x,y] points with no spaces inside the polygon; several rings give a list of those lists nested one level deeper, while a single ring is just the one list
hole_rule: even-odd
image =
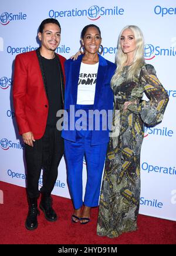
[{"label": "smiling man in red blazer, black pants and black boots", "polygon": [[[55,186],[57,167],[63,156],[63,139],[56,129],[56,112],[63,109],[65,58],[55,53],[60,43],[60,24],[45,19],[39,26],[41,47],[15,58],[13,105],[19,134],[25,142],[29,211],[25,227],[38,227],[38,197],[46,220],[56,221],[50,194]],[[43,186],[38,190],[41,169]]]}]

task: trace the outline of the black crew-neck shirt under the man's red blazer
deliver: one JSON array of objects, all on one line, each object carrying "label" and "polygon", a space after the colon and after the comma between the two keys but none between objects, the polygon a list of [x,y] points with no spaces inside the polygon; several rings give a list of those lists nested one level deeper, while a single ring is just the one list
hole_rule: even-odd
[{"label": "black crew-neck shirt under the man's red blazer", "polygon": [[57,62],[56,56],[54,59],[45,59],[42,57],[42,65],[46,78],[46,93],[49,101],[46,124],[56,126],[58,120],[58,117],[56,117],[57,110],[62,109],[59,63]]}]

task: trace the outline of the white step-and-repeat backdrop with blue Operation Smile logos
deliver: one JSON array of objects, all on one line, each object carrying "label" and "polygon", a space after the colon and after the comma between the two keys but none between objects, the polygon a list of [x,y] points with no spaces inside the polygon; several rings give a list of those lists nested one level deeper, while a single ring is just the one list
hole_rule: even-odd
[{"label": "white step-and-repeat backdrop with blue Operation Smile logos", "polygon": [[[117,38],[126,25],[137,25],[145,38],[145,60],[170,96],[162,123],[145,127],[141,150],[140,213],[176,221],[175,165],[175,0],[7,0],[0,6],[0,180],[26,186],[24,145],[18,135],[12,103],[13,66],[18,53],[39,47],[38,27],[46,18],[60,22],[61,42],[56,52],[69,58],[80,48],[80,32],[94,23],[101,29],[104,58],[114,62]],[[70,198],[65,160],[59,166],[53,194]],[[86,163],[83,161],[83,183]],[[42,186],[42,173],[39,180]],[[1,190],[1,188],[0,188]]]}]

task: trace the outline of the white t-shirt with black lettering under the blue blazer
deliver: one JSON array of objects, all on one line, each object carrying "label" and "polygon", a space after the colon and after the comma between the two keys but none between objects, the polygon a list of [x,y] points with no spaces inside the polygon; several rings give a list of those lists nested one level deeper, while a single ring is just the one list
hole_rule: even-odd
[{"label": "white t-shirt with black lettering under the blue blazer", "polygon": [[81,63],[77,86],[77,104],[93,105],[99,62],[90,65]]}]

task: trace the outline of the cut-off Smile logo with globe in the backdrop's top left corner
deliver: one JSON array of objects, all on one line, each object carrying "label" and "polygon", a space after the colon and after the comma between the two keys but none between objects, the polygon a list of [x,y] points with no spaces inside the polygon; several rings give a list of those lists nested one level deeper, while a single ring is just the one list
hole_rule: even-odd
[{"label": "cut-off Smile logo with globe in the backdrop's top left corner", "polygon": [[19,21],[26,19],[26,14],[22,14],[22,12],[19,12],[19,14],[12,14],[8,12],[3,12],[0,16],[0,23],[1,25],[8,25],[10,21]]}]

